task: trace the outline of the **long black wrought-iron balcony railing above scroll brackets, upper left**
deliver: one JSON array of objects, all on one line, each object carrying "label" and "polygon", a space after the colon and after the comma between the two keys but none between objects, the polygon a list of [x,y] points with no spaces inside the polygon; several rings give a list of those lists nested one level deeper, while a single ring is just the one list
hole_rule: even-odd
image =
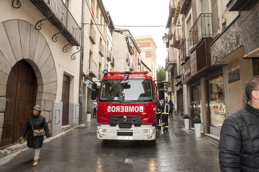
[{"label": "long black wrought-iron balcony railing above scroll brackets, upper left", "polygon": [[[30,0],[49,22],[61,31],[63,36],[73,46],[80,46],[81,28],[75,21],[62,0]],[[45,20],[43,19],[43,20]],[[35,28],[41,29],[42,21],[37,22]],[[59,32],[60,33],[60,32]],[[55,35],[56,36],[56,35]],[[57,37],[56,37],[57,38]],[[55,42],[55,41],[54,41]]]}]

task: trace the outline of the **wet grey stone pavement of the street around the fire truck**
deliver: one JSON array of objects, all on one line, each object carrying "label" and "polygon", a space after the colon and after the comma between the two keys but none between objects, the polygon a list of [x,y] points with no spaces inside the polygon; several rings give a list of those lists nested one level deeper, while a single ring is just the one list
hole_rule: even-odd
[{"label": "wet grey stone pavement of the street around the fire truck", "polygon": [[155,142],[96,138],[96,119],[70,129],[41,148],[39,163],[32,166],[34,150],[22,151],[0,159],[0,171],[84,171],[84,172],[163,172],[220,171],[218,146],[204,137],[195,138],[184,122],[174,116],[169,131],[159,129]]}]

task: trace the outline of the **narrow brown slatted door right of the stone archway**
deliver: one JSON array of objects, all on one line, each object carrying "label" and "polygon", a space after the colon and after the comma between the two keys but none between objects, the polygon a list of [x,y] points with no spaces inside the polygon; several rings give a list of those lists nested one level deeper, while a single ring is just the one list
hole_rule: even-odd
[{"label": "narrow brown slatted door right of the stone archway", "polygon": [[68,107],[69,107],[69,84],[70,77],[63,75],[63,84],[62,84],[62,126],[68,125]]}]

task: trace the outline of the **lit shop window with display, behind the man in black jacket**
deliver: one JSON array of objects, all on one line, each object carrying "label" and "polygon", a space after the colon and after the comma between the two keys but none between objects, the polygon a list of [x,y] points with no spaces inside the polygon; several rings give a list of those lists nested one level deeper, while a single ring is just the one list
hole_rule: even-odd
[{"label": "lit shop window with display, behind the man in black jacket", "polygon": [[223,74],[210,78],[210,125],[221,127],[226,118]]}]

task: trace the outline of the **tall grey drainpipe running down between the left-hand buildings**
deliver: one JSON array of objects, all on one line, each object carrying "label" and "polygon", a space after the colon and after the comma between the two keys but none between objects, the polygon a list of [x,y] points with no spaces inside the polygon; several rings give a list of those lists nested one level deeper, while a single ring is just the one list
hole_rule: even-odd
[{"label": "tall grey drainpipe running down between the left-hand buildings", "polygon": [[[83,49],[84,49],[84,20],[85,20],[85,0],[82,0],[82,25],[81,25],[81,56],[80,56],[80,81],[79,81],[79,116],[81,117],[81,124],[83,124]],[[79,118],[80,123],[80,118]]]}]

